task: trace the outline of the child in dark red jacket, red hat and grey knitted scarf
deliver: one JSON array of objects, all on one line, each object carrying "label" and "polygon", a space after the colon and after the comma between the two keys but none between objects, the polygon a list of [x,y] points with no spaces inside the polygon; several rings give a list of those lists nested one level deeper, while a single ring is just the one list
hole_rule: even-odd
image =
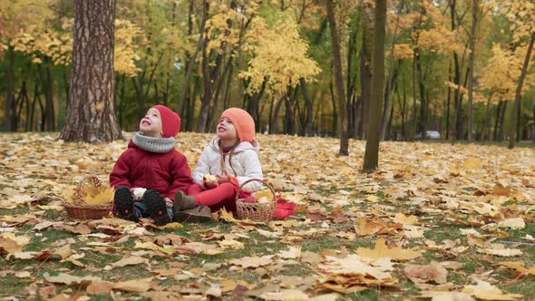
[{"label": "child in dark red jacket, red hat and grey knitted scarf", "polygon": [[110,174],[114,216],[132,221],[151,217],[159,226],[170,223],[175,194],[186,193],[192,183],[188,160],[174,149],[179,131],[180,116],[163,105],[151,107],[141,119],[140,131]]}]

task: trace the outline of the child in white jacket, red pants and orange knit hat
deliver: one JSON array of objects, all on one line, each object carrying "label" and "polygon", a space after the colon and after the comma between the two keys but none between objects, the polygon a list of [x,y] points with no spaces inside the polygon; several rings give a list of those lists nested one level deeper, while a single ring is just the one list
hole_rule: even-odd
[{"label": "child in white jacket, red pants and orange knit hat", "polygon": [[[189,196],[181,191],[175,196],[176,221],[204,220],[195,218],[202,211],[199,205],[208,206],[212,211],[225,207],[236,212],[238,187],[250,179],[263,179],[255,121],[248,112],[238,108],[223,112],[217,133],[200,155]],[[247,198],[261,187],[262,182],[250,181],[240,189],[239,197]]]}]

